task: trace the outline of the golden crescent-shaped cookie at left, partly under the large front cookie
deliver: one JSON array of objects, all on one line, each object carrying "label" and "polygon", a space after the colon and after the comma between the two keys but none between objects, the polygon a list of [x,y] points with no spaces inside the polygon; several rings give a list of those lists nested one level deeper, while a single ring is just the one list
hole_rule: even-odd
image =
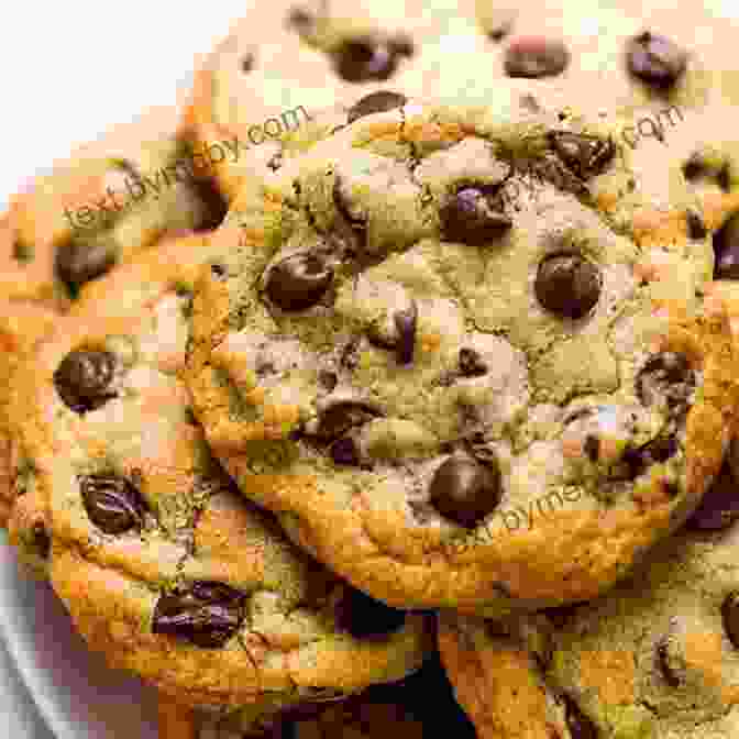
[{"label": "golden crescent-shaped cookie at left, partly under the large front cookie", "polygon": [[211,457],[179,379],[207,238],[82,290],[22,364],[11,541],[109,663],[184,705],[343,695],[422,660],[427,619],[301,554]]}]

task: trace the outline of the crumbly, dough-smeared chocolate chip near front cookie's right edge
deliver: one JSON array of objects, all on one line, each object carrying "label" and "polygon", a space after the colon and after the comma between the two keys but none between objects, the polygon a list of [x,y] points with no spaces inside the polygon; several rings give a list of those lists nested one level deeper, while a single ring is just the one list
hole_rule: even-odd
[{"label": "crumbly, dough-smeared chocolate chip near front cookie's right edge", "polygon": [[685,356],[661,352],[647,360],[636,377],[636,393],[644,406],[664,400],[671,411],[682,416],[695,388],[695,373]]}]

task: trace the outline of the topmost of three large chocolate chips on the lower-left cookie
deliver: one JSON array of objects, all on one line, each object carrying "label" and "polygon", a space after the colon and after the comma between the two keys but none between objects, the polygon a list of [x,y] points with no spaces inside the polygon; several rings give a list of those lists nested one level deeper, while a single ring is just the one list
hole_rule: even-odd
[{"label": "topmost of three large chocolate chips on the lower-left cookie", "polygon": [[65,405],[81,415],[115,397],[110,388],[114,373],[115,357],[110,352],[78,350],[56,368],[54,387]]}]

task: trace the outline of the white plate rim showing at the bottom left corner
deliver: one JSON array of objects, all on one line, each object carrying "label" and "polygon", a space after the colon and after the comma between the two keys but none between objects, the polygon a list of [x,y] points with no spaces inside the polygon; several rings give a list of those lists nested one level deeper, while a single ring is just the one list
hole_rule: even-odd
[{"label": "white plate rim showing at the bottom left corner", "polygon": [[4,532],[0,636],[57,739],[156,739],[154,692],[88,651],[52,588],[24,576]]}]

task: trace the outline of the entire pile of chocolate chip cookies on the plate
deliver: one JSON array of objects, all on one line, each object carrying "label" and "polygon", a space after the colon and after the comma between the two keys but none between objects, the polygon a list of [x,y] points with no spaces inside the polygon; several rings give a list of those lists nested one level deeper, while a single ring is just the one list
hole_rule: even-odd
[{"label": "entire pile of chocolate chip cookies on the plate", "polygon": [[258,3],[13,199],[2,520],[162,739],[739,732],[734,29],[648,4]]}]

